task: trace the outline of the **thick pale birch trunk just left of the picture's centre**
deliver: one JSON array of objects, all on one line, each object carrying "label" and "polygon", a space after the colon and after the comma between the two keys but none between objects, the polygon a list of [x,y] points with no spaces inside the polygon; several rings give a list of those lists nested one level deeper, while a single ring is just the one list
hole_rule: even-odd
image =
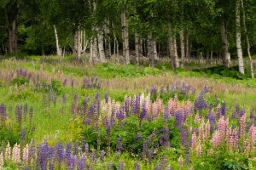
[{"label": "thick pale birch trunk just left of the picture's centre", "polygon": [[126,65],[129,65],[130,64],[129,34],[128,34],[127,17],[124,12],[121,14],[121,22],[122,22],[123,55],[125,56]]}]

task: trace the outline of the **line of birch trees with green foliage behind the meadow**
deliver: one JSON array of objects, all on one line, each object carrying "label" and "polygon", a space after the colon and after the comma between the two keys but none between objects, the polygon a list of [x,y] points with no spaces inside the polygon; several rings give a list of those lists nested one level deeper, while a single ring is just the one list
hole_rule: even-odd
[{"label": "line of birch trees with green foliage behind the meadow", "polygon": [[174,69],[218,56],[227,67],[237,58],[244,73],[243,54],[256,53],[255,9],[254,0],[2,0],[1,53],[120,55],[125,64],[132,55],[152,66],[168,56]]}]

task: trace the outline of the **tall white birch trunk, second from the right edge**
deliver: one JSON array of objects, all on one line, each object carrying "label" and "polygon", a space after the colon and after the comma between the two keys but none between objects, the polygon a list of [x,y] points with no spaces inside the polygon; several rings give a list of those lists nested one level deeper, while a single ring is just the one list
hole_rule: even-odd
[{"label": "tall white birch trunk, second from the right edge", "polygon": [[241,26],[240,26],[240,0],[236,0],[236,49],[238,66],[241,74],[244,74],[242,51],[241,51]]}]

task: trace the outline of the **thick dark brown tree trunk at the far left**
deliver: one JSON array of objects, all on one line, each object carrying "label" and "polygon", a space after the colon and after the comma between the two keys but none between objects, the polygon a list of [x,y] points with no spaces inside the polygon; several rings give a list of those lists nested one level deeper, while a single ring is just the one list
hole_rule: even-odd
[{"label": "thick dark brown tree trunk at the far left", "polygon": [[18,53],[18,3],[12,3],[9,8],[6,8],[6,18],[9,22],[8,36],[9,36],[9,53]]}]

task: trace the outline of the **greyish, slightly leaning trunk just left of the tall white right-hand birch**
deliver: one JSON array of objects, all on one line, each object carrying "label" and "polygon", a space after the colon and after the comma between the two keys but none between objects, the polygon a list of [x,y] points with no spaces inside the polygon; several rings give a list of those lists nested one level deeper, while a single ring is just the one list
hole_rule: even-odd
[{"label": "greyish, slightly leaning trunk just left of the tall white right-hand birch", "polygon": [[222,42],[221,54],[222,54],[223,65],[226,67],[230,67],[229,42],[228,42],[228,35],[227,35],[224,21],[220,26],[220,33],[221,33],[221,42]]}]

